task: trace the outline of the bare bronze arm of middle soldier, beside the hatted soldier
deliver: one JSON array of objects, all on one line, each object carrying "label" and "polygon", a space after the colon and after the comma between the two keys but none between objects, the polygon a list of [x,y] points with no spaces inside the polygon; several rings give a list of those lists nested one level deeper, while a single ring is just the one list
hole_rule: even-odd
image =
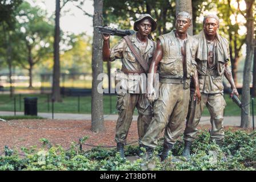
[{"label": "bare bronze arm of middle soldier, beside the hatted soldier", "polygon": [[154,76],[155,73],[157,73],[158,65],[163,57],[163,49],[162,44],[160,40],[157,40],[157,47],[155,49],[153,60],[151,62],[150,68],[149,68],[149,75],[148,75],[148,86],[147,86],[147,97],[152,96],[154,92],[153,84],[154,84]]}]

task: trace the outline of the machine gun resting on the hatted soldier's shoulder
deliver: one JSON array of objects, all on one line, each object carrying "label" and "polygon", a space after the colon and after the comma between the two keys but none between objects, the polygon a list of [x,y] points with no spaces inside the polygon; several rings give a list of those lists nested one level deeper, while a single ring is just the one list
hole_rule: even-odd
[{"label": "machine gun resting on the hatted soldier's shoulder", "polygon": [[118,28],[102,27],[102,26],[95,26],[95,28],[99,34],[110,34],[110,35],[117,35],[117,36],[126,36],[126,35],[135,34],[134,30],[122,30]]}]

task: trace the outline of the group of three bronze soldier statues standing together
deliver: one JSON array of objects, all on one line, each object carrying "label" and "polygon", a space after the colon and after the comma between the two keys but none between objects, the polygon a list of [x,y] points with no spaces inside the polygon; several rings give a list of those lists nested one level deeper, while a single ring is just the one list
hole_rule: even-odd
[{"label": "group of three bronze soldier statues standing together", "polygon": [[[122,158],[135,107],[139,114],[139,146],[146,148],[149,157],[165,130],[161,160],[167,158],[182,133],[182,155],[189,158],[205,105],[211,115],[211,139],[219,145],[223,143],[223,76],[230,82],[231,95],[238,96],[229,68],[229,43],[218,34],[216,15],[205,16],[198,35],[187,34],[190,26],[191,15],[178,13],[175,30],[160,35],[155,43],[149,35],[157,28],[157,22],[149,14],[142,14],[134,22],[136,33],[123,37],[113,48],[109,47],[110,35],[102,34],[103,60],[122,61],[122,69],[116,74],[119,117],[115,134]],[[159,81],[159,88],[153,86],[155,81]]]}]

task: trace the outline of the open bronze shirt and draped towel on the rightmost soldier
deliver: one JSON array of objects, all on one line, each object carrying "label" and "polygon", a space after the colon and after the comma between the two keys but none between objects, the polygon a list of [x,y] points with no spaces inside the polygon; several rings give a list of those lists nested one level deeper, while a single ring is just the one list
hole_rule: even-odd
[{"label": "open bronze shirt and draped towel on the rightmost soldier", "polygon": [[[197,39],[197,72],[200,92],[205,94],[223,93],[223,75],[225,64],[229,62],[229,44],[225,38],[217,34],[214,45],[215,69],[207,68],[207,45],[203,31],[193,38]],[[193,88],[193,85],[191,85]]]}]

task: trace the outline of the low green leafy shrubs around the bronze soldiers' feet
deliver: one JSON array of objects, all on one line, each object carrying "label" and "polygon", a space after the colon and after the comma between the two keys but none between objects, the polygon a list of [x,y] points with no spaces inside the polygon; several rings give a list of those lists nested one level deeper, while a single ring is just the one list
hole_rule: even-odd
[{"label": "low green leafy shrubs around the bronze soldiers' feet", "polygon": [[[87,137],[83,137],[85,142]],[[81,140],[81,141],[82,141]],[[46,147],[49,140],[42,138],[42,147],[32,146],[22,148],[25,157],[20,157],[17,151],[8,156],[0,156],[0,170],[255,170],[256,163],[256,132],[231,130],[226,132],[226,140],[222,148],[210,142],[210,134],[203,131],[198,135],[192,146],[190,160],[180,155],[183,142],[174,145],[173,155],[160,162],[158,154],[161,151],[162,139],[155,148],[154,155],[130,162],[122,159],[115,149],[93,148],[90,151],[80,151],[79,143],[72,143],[67,151],[61,146]],[[9,149],[10,150],[10,149]],[[126,146],[126,156],[135,155],[138,146]],[[174,160],[176,158],[176,160]],[[178,160],[177,160],[178,159]]]}]

